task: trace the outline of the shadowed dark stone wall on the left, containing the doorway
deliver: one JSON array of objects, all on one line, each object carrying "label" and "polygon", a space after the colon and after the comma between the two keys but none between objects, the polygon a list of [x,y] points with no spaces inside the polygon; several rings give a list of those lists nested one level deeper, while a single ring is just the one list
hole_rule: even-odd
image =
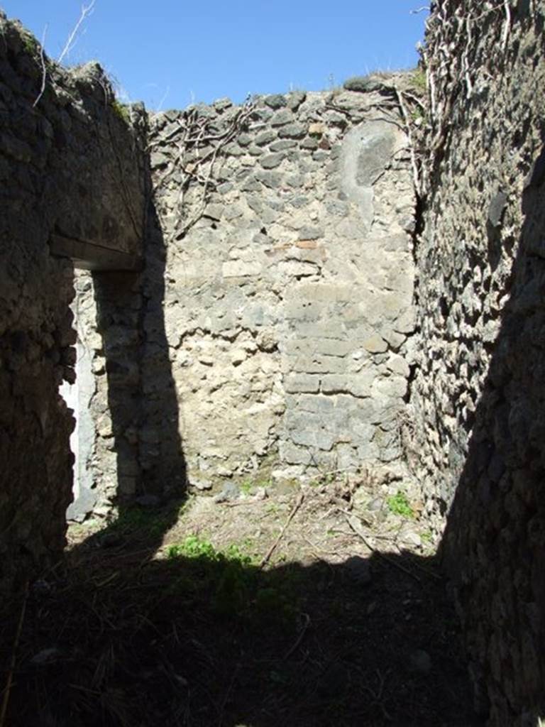
[{"label": "shadowed dark stone wall on the left, containing the doorway", "polygon": [[1,587],[64,545],[73,417],[59,387],[76,334],[62,247],[100,266],[137,259],[142,243],[143,169],[108,81],[96,64],[44,63],[41,94],[38,44],[0,15]]}]

